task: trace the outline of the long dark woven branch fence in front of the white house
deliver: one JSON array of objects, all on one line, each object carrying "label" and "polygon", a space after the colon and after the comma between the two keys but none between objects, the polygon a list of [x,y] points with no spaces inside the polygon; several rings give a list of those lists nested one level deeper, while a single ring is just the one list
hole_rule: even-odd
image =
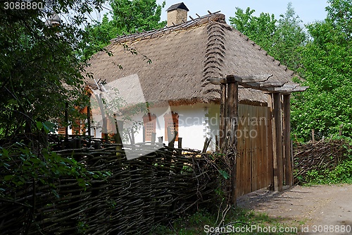
[{"label": "long dark woven branch fence in front of the white house", "polygon": [[[0,200],[0,234],[147,234],[158,223],[211,205],[219,173],[211,155],[162,145],[124,146],[149,155],[127,160],[115,145],[58,151],[80,158],[87,171],[108,171],[86,188],[73,178],[51,187],[28,182]],[[1,199],[1,198],[0,198]]]}]

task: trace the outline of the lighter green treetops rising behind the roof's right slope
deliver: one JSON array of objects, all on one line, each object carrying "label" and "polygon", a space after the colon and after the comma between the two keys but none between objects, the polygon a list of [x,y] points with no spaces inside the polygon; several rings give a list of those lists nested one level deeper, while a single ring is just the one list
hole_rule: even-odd
[{"label": "lighter green treetops rising behind the roof's right slope", "polygon": [[260,13],[257,17],[253,16],[254,12],[247,8],[244,13],[241,8],[237,8],[235,16],[230,17],[231,25],[282,64],[291,69],[298,68],[298,48],[306,41],[306,33],[292,4],[288,4],[286,13],[280,15],[279,20],[275,19],[274,14]]}]

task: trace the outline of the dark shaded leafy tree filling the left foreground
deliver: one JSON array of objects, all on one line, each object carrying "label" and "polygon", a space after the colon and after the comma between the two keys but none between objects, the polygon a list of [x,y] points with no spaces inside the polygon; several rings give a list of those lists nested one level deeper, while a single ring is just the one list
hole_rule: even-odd
[{"label": "dark shaded leafy tree filling the left foreground", "polygon": [[[93,8],[101,9],[103,0],[60,0],[45,11],[34,9],[44,6],[45,1],[28,1],[26,9],[18,10],[4,2],[0,3],[1,205],[15,203],[18,191],[29,193],[32,188],[35,193],[34,186],[44,186],[44,194],[59,196],[53,182],[63,176],[76,178],[83,187],[94,176],[72,156],[52,152],[43,133],[51,131],[52,123],[47,121],[63,115],[65,104],[69,112],[81,104],[87,65],[76,54],[87,44],[87,33],[81,25]],[[49,23],[53,13],[63,13],[65,21],[60,25]],[[12,229],[19,228],[20,234],[28,234],[39,213],[34,198],[23,195],[21,203],[25,206],[15,215],[25,217],[26,223],[18,222],[15,228],[1,232],[12,234]],[[6,215],[4,210],[0,207],[1,215]],[[14,214],[8,213],[10,220],[16,219],[11,216]]]}]

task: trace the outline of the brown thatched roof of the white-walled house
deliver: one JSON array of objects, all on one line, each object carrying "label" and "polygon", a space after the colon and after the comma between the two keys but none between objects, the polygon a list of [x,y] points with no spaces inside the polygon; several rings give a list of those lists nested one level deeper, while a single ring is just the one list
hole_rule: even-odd
[{"label": "brown thatched roof of the white-walled house", "polygon": [[[130,53],[124,45],[136,49],[138,54]],[[107,49],[113,56],[106,52],[95,54],[87,71],[106,83],[137,75],[149,102],[218,101],[219,86],[208,83],[207,78],[272,74],[270,81],[291,82],[294,74],[227,25],[220,13],[161,30],[118,37],[111,40]],[[151,64],[144,56],[151,59]],[[93,80],[88,84],[96,87]],[[132,95],[134,91],[127,92]],[[268,97],[260,91],[239,89],[239,100],[265,104]]]}]

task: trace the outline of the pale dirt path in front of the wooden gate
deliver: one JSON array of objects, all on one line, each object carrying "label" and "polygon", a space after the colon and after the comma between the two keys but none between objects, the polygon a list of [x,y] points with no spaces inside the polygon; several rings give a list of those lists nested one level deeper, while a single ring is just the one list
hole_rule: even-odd
[{"label": "pale dirt path in front of the wooden gate", "polygon": [[292,224],[298,234],[352,234],[351,184],[260,190],[239,198],[238,205]]}]

